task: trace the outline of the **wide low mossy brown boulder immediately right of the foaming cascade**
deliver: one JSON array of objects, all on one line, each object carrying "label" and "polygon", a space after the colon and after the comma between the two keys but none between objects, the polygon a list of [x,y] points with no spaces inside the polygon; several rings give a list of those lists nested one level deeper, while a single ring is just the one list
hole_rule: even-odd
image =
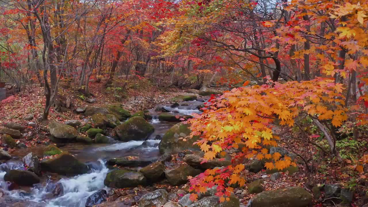
[{"label": "wide low mossy brown boulder immediately right of the foaming cascade", "polygon": [[103,183],[108,187],[115,188],[137,187],[146,185],[147,179],[140,172],[116,169],[107,173]]}]

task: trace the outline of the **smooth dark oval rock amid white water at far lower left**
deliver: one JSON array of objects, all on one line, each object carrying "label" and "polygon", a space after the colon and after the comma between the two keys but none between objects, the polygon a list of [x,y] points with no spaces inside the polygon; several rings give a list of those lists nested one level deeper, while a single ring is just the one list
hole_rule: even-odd
[{"label": "smooth dark oval rock amid white water at far lower left", "polygon": [[35,173],[24,170],[10,170],[4,175],[4,180],[20,186],[32,186],[40,182],[40,178]]}]

